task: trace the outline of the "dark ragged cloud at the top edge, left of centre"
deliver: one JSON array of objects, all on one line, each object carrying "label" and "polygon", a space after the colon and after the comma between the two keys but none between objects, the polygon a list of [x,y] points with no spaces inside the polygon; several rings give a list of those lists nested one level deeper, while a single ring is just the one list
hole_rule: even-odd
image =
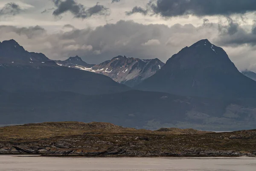
[{"label": "dark ragged cloud at the top edge, left of centre", "polygon": [[54,16],[60,16],[65,12],[71,12],[76,18],[88,18],[92,15],[108,15],[109,9],[105,6],[99,5],[97,3],[95,6],[86,8],[84,5],[77,3],[75,0],[52,0],[57,9],[52,13]]}]

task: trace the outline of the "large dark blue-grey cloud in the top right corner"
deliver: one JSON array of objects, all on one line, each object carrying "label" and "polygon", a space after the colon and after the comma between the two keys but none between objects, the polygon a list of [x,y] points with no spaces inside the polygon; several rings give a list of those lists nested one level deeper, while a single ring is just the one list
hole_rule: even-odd
[{"label": "large dark blue-grey cloud in the top right corner", "polygon": [[212,16],[256,11],[256,0],[151,0],[147,8],[163,17]]}]

